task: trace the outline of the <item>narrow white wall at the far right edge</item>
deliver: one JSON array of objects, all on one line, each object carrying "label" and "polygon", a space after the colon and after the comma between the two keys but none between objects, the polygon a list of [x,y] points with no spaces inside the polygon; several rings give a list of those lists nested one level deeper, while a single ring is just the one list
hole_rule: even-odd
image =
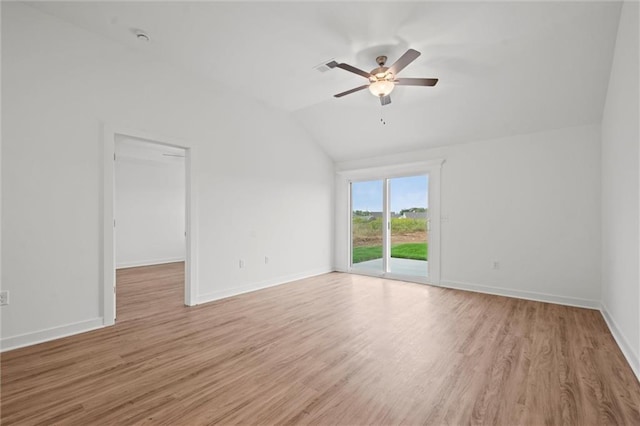
[{"label": "narrow white wall at the far right edge", "polygon": [[602,119],[602,304],[640,377],[638,13],[624,3]]}]

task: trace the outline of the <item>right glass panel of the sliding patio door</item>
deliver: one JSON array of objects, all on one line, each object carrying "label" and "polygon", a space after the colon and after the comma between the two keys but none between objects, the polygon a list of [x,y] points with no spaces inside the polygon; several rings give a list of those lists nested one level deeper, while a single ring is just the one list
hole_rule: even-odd
[{"label": "right glass panel of the sliding patio door", "polygon": [[409,176],[389,182],[390,258],[394,275],[428,274],[429,178]]}]

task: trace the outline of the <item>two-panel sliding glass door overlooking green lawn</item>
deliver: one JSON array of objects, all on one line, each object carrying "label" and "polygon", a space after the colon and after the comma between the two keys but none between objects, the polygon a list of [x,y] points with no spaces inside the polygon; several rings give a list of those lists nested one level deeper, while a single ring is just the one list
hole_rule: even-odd
[{"label": "two-panel sliding glass door overlooking green lawn", "polygon": [[351,270],[428,276],[429,178],[351,182]]}]

